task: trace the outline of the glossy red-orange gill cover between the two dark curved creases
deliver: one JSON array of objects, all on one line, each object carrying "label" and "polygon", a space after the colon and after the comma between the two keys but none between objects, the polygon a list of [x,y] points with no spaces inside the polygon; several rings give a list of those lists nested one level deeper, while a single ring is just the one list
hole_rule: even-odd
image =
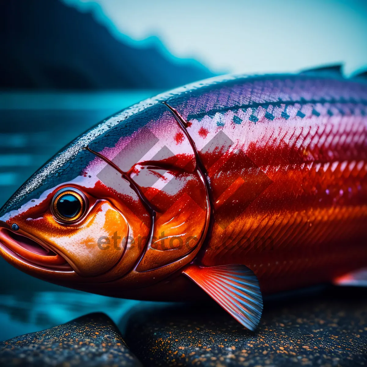
[{"label": "glossy red-orange gill cover between the two dark curved creases", "polygon": [[119,172],[150,214],[149,238],[134,270],[164,272],[164,267],[172,268],[174,263],[178,269],[181,260],[186,258],[187,263],[195,256],[208,228],[210,205],[204,174],[195,147],[169,108],[155,105],[135,119],[147,123],[127,136],[126,124],[119,124],[88,149],[108,162],[98,178],[123,193],[120,183],[115,186],[110,181]]}]

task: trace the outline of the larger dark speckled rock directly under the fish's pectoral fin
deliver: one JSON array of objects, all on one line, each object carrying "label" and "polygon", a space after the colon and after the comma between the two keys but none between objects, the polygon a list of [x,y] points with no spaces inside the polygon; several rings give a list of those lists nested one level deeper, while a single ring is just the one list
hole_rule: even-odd
[{"label": "larger dark speckled rock directly under the fish's pectoral fin", "polygon": [[132,316],[126,340],[145,366],[362,366],[367,364],[367,298],[333,288],[270,300],[251,332],[210,304]]}]

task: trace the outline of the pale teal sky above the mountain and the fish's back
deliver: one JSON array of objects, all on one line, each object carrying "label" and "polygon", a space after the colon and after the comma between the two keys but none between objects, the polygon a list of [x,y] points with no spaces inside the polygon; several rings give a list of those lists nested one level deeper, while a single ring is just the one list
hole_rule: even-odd
[{"label": "pale teal sky above the mountain and the fish's back", "polygon": [[350,75],[367,68],[367,1],[63,1],[92,9],[112,33],[146,42],[156,36],[175,57],[196,59],[216,73],[344,63]]}]

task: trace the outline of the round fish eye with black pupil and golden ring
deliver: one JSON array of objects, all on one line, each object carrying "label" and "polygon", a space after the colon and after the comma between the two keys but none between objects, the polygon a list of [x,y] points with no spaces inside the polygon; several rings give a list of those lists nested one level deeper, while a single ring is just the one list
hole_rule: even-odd
[{"label": "round fish eye with black pupil and golden ring", "polygon": [[87,208],[86,196],[75,188],[59,190],[52,199],[52,213],[62,222],[75,222],[83,217]]}]

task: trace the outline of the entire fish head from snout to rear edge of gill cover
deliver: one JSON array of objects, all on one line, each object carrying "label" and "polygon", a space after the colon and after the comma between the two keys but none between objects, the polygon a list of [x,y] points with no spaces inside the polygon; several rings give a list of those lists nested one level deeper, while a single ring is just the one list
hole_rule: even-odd
[{"label": "entire fish head from snout to rear edge of gill cover", "polygon": [[77,138],[30,177],[1,208],[1,255],[43,280],[118,297],[192,261],[209,223],[204,178],[172,113],[154,111]]}]

